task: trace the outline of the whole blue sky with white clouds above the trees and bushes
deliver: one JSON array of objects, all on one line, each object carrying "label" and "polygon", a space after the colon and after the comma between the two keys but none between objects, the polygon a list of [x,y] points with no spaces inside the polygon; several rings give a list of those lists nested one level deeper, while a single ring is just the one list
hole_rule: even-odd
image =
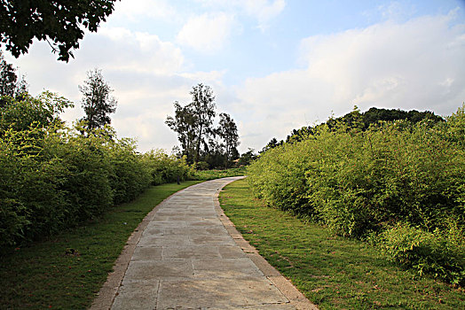
[{"label": "whole blue sky with white clouds above the trees and bushes", "polygon": [[464,0],[122,0],[69,63],[47,43],[7,60],[75,102],[99,67],[118,99],[112,124],[140,151],[177,144],[173,102],[209,85],[239,127],[240,151],[262,149],[354,105],[450,115],[465,101]]}]

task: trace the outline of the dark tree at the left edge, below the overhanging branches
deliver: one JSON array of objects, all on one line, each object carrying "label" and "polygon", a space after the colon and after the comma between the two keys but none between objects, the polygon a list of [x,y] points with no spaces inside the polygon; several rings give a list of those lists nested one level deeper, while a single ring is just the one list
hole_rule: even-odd
[{"label": "dark tree at the left edge, below the overhanging branches", "polygon": [[28,83],[22,76],[18,80],[16,71],[17,69],[12,64],[6,62],[0,50],[0,97],[19,97],[28,92]]}]

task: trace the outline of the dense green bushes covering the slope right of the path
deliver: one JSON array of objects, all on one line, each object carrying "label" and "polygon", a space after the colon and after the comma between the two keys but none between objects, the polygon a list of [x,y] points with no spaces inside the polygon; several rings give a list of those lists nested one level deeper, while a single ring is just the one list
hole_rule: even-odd
[{"label": "dense green bushes covering the slope right of the path", "polygon": [[464,110],[445,120],[354,111],[264,151],[248,182],[269,205],[372,241],[421,275],[463,285]]}]

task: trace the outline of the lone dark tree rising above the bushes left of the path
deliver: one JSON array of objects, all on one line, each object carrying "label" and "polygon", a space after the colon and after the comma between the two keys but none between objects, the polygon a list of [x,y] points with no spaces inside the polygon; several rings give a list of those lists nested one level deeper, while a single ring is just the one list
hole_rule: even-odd
[{"label": "lone dark tree rising above the bushes left of the path", "polygon": [[111,123],[108,116],[116,111],[116,99],[110,96],[113,89],[104,80],[102,71],[94,69],[87,73],[87,80],[83,86],[79,86],[83,93],[82,106],[85,112],[83,119],[88,131],[103,128]]}]

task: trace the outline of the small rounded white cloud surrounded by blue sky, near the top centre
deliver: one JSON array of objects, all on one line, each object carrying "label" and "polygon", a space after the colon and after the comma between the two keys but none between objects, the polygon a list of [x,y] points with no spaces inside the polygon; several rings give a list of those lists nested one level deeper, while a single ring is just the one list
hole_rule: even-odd
[{"label": "small rounded white cloud surrounded by blue sky, near the top centre", "polygon": [[233,33],[233,15],[225,12],[205,13],[185,23],[177,41],[201,52],[221,50]]}]

